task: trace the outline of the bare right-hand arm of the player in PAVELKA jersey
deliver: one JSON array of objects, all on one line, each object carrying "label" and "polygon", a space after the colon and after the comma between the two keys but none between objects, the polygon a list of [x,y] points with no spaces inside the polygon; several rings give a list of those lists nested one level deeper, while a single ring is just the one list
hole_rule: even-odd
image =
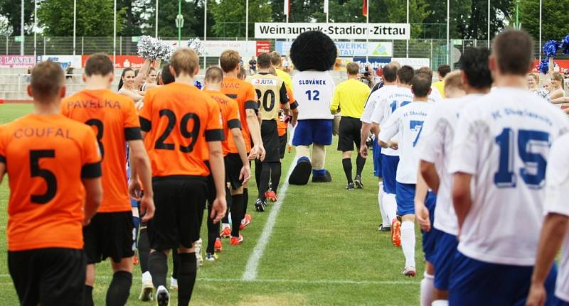
[{"label": "bare right-hand arm of the player in PAVELKA jersey", "polygon": [[[130,165],[134,166],[134,175],[131,182],[140,182],[144,194],[140,200],[140,212],[144,214],[142,222],[147,222],[154,217],[154,192],[152,190],[152,173],[150,168],[150,160],[147,151],[144,149],[142,140],[129,141],[130,148]],[[135,194],[140,195],[141,190],[132,190]],[[130,184],[129,184],[129,192]]]}]

